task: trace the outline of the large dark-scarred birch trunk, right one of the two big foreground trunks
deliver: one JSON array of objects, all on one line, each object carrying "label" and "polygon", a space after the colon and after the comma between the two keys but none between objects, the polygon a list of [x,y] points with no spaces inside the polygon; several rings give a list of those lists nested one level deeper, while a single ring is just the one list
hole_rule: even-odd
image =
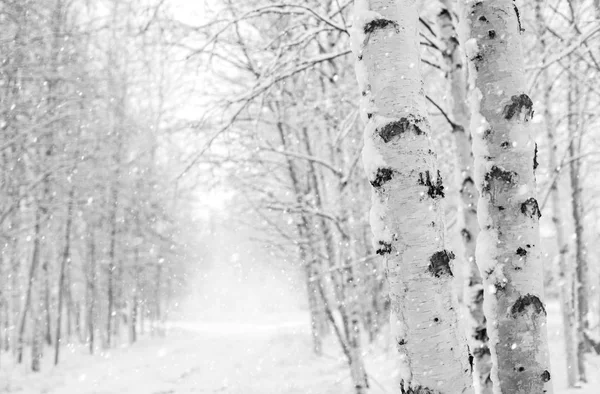
[{"label": "large dark-scarred birch trunk, right one of the two big foreground trunks", "polygon": [[513,1],[466,1],[477,264],[496,394],[551,393],[543,304],[533,103],[523,92],[521,22]]}]

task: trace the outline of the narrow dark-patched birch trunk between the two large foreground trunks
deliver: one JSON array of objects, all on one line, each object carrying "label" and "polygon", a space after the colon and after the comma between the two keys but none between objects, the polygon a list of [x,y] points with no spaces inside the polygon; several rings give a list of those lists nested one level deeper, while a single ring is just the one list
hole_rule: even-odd
[{"label": "narrow dark-patched birch trunk between the two large foreground trunks", "polygon": [[438,15],[441,38],[446,48],[443,53],[450,82],[449,107],[452,114],[452,136],[456,147],[457,174],[460,181],[459,222],[465,254],[463,256],[465,289],[463,302],[470,315],[467,320],[467,339],[473,356],[473,379],[475,388],[482,394],[493,390],[490,372],[492,361],[487,341],[486,319],[483,312],[483,284],[475,259],[475,240],[479,235],[477,223],[477,199],[479,193],[473,181],[473,155],[471,150],[470,114],[467,107],[467,80],[464,53],[459,46],[456,19],[450,0],[443,0],[444,7]]}]

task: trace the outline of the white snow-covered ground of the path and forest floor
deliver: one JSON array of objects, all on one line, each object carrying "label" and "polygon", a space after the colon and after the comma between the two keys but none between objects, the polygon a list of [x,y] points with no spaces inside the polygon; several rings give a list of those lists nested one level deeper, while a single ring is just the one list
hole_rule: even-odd
[{"label": "white snow-covered ground of the path and forest floor", "polygon": [[[591,359],[584,389],[564,389],[564,357],[558,307],[548,308],[552,377],[556,394],[600,393],[600,359]],[[89,356],[71,348],[56,368],[46,357],[42,373],[6,365],[0,392],[22,394],[343,394],[352,393],[334,338],[323,357],[311,354],[304,314],[276,315],[260,322],[173,323],[166,338],[144,338],[133,346]],[[393,352],[381,343],[369,348],[372,394],[394,393]]]}]

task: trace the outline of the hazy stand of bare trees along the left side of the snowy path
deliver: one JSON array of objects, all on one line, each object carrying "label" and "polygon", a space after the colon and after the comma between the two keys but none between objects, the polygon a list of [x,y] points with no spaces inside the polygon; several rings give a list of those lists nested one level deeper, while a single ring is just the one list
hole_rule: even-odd
[{"label": "hazy stand of bare trees along the left side of the snowy path", "polygon": [[0,355],[33,371],[164,334],[190,272],[161,5],[0,2]]}]

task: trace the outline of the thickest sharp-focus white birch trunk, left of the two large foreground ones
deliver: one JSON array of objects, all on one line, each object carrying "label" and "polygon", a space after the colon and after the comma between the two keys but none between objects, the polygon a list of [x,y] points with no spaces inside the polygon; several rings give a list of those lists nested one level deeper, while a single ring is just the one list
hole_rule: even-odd
[{"label": "thickest sharp-focus white birch trunk, left of the two large foreground ones", "polygon": [[357,0],[353,51],[362,93],[371,227],[390,286],[402,393],[472,392],[452,297],[444,187],[430,141],[414,0]]}]

